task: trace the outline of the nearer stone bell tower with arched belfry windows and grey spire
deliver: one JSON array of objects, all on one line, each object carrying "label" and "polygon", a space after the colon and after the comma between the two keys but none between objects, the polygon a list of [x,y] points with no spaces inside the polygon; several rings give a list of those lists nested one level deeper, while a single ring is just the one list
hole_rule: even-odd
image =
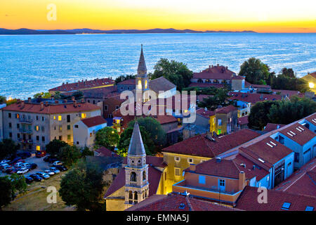
[{"label": "nearer stone bell tower with arched belfry windows and grey spire", "polygon": [[129,143],[127,165],[125,167],[125,208],[140,203],[148,197],[148,165],[143,139],[136,121]]}]

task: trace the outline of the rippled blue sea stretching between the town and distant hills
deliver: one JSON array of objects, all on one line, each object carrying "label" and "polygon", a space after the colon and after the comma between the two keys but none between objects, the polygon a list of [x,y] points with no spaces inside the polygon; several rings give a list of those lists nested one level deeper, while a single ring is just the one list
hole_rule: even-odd
[{"label": "rippled blue sea stretching between the town and distant hills", "polygon": [[27,98],[62,82],[135,74],[144,45],[147,70],[159,58],[198,72],[249,57],[298,76],[316,71],[316,34],[81,34],[0,36],[0,95]]}]

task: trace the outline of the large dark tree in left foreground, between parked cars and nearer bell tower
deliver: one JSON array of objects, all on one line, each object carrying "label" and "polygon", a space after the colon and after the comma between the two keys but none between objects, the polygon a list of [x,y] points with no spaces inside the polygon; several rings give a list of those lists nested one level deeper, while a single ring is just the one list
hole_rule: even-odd
[{"label": "large dark tree in left foreground, between parked cars and nearer bell tower", "polygon": [[59,194],[66,205],[76,205],[79,211],[100,210],[106,185],[98,165],[81,161],[62,178]]}]

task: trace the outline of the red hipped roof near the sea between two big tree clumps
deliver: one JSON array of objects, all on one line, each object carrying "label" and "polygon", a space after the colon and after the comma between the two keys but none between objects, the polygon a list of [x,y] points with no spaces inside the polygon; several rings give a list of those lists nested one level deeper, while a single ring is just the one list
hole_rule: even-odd
[{"label": "red hipped roof near the sea between two big tree clumps", "polygon": [[232,79],[235,72],[228,70],[223,65],[209,67],[202,72],[193,72],[192,79]]}]

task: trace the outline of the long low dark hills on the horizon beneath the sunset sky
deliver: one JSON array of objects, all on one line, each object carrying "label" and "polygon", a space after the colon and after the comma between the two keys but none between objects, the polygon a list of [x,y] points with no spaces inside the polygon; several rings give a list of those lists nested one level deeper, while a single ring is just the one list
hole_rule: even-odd
[{"label": "long low dark hills on the horizon beneath the sunset sky", "polygon": [[[0,28],[1,34],[183,34],[183,33],[230,33],[233,31],[197,31],[197,30],[176,30],[173,28],[169,29],[150,29],[150,30],[93,30],[88,28],[83,29],[72,29],[72,30],[31,30],[26,28],[21,28],[18,30],[9,30]],[[233,33],[256,33],[252,30],[244,30]]]}]

